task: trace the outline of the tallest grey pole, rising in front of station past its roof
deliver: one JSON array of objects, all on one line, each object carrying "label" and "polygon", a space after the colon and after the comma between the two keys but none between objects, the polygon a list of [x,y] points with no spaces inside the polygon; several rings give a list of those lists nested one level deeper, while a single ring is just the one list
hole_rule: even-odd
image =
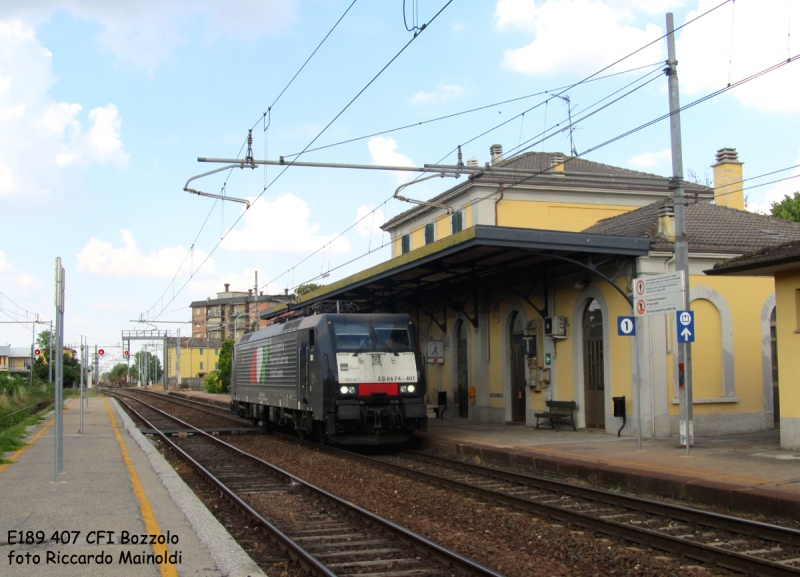
[{"label": "tallest grey pole, rising in front of station past its roof", "polygon": [[[675,205],[675,268],[683,271],[683,310],[690,307],[689,243],[686,238],[686,197],[683,190],[683,151],[681,146],[680,88],[678,61],[675,58],[675,27],[672,12],[667,13],[667,77],[669,78],[670,136],[672,140],[672,183]],[[692,426],[692,356],[688,345],[678,347],[678,382],[683,384],[681,398],[680,442],[690,454],[694,431]]]}]

